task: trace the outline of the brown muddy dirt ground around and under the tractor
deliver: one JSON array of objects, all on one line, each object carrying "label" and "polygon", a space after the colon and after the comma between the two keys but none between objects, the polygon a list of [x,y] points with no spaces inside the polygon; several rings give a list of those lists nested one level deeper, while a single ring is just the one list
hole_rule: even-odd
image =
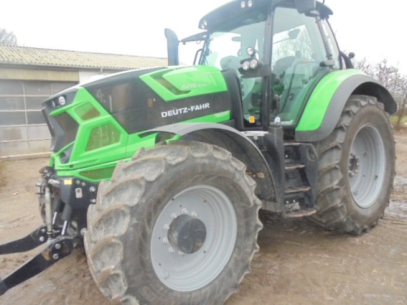
[{"label": "brown muddy dirt ground around and under the tractor", "polygon": [[[258,238],[252,272],[232,296],[237,304],[407,304],[407,131],[396,132],[394,192],[384,218],[367,234],[321,229],[308,220],[270,220]],[[35,194],[47,159],[0,163],[0,243],[41,224]],[[35,253],[0,256],[0,276]],[[83,250],[11,289],[0,304],[108,304]]]}]

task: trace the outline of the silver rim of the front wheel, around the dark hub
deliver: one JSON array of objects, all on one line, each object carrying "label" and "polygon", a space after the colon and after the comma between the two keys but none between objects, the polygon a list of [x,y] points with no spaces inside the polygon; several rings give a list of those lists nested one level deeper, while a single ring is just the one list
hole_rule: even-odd
[{"label": "silver rim of the front wheel, around the dark hub", "polygon": [[[168,228],[177,217],[188,215],[206,227],[200,249],[185,254],[168,240]],[[223,270],[235,248],[237,218],[229,198],[211,186],[194,186],[172,198],[153,229],[151,259],[154,271],[168,288],[186,292],[211,283]]]}]

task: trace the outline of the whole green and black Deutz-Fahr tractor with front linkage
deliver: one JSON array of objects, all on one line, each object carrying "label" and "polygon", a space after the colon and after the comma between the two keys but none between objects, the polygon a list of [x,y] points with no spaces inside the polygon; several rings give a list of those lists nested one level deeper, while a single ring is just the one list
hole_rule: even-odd
[{"label": "whole green and black Deutz-Fahr tractor with front linkage", "polygon": [[[353,69],[315,0],[236,0],[178,40],[168,67],[80,84],[46,100],[44,225],[0,246],[43,251],[0,294],[84,243],[112,303],[215,304],[258,251],[260,209],[339,232],[389,203],[396,104]],[[179,44],[197,43],[193,66]]]}]

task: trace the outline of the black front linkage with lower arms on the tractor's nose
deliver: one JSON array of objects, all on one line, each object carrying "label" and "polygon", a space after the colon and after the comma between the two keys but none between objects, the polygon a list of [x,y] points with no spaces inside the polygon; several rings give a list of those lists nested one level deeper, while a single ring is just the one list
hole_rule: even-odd
[{"label": "black front linkage with lower arms on the tractor's nose", "polygon": [[97,184],[75,177],[58,177],[48,166],[40,173],[42,180],[37,183],[37,194],[45,225],[21,239],[0,245],[0,255],[43,247],[31,260],[0,279],[0,295],[70,255],[74,246],[82,242],[86,210],[89,204],[96,202]]}]

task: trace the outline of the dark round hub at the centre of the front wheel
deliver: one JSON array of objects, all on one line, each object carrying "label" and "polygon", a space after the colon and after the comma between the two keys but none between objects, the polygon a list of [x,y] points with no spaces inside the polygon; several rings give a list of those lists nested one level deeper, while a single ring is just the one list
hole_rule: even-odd
[{"label": "dark round hub at the centre of the front wheel", "polygon": [[180,215],[169,225],[168,241],[172,247],[192,254],[202,247],[207,236],[205,224],[189,215]]}]

